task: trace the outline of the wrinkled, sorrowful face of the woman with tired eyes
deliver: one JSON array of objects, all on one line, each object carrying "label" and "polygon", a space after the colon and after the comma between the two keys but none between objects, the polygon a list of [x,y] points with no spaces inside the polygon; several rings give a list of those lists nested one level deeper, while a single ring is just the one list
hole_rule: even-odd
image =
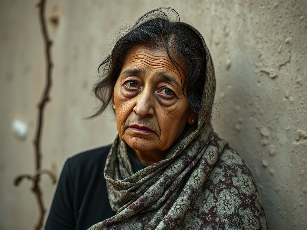
[{"label": "wrinkled, sorrowful face of the woman with tired eyes", "polygon": [[129,52],[113,92],[120,139],[147,154],[167,150],[196,119],[182,93],[184,78],[164,50]]}]

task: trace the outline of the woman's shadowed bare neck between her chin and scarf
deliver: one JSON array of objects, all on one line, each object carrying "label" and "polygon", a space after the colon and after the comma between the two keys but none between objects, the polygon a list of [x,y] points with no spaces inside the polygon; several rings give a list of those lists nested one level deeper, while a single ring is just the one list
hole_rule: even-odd
[{"label": "woman's shadowed bare neck between her chin and scarf", "polygon": [[157,151],[139,151],[132,149],[132,152],[139,162],[145,165],[151,165],[160,160],[163,160],[168,151],[165,150],[157,152]]}]

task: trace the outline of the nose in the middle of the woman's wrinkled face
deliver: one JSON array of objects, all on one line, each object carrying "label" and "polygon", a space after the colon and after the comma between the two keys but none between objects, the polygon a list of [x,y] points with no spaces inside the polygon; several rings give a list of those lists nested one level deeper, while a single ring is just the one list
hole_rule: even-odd
[{"label": "nose in the middle of the woman's wrinkled face", "polygon": [[143,89],[137,97],[135,97],[135,106],[133,108],[134,113],[138,117],[152,117],[154,114],[154,99],[150,90]]}]

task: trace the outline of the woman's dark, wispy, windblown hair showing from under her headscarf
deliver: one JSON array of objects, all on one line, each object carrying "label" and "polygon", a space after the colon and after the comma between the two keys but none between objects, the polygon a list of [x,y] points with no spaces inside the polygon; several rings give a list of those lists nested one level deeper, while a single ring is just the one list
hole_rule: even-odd
[{"label": "woman's dark, wispy, windblown hair showing from under her headscarf", "polygon": [[[173,15],[175,20],[171,21],[169,15]],[[99,65],[100,79],[93,91],[102,105],[91,117],[100,115],[107,108],[127,53],[142,45],[153,50],[166,50],[178,72],[180,69],[185,74],[182,91],[184,93],[187,87],[184,95],[190,108],[199,115],[211,118],[212,104],[204,106],[201,103],[206,76],[206,52],[201,39],[201,35],[191,25],[181,22],[177,11],[170,7],[144,14],[128,33],[118,39],[111,53]]]}]

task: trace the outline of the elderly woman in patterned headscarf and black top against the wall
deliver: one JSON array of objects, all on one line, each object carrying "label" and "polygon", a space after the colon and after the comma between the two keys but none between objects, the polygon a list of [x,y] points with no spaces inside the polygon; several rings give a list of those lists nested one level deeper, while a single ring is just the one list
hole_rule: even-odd
[{"label": "elderly woman in patterned headscarf and black top against the wall", "polygon": [[142,16],[99,66],[94,116],[112,102],[119,135],[67,160],[45,229],[267,229],[251,171],[212,130],[208,47],[169,13]]}]

